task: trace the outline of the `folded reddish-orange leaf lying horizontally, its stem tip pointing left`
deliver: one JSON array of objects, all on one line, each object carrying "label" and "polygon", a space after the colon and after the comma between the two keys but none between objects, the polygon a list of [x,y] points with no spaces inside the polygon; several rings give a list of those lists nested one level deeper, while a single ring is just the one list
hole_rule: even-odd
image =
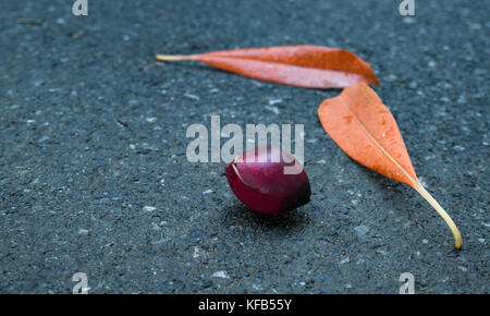
[{"label": "folded reddish-orange leaf lying horizontally, its stem tip pointing left", "polygon": [[306,88],[380,83],[369,63],[353,52],[322,46],[277,46],[192,56],[157,54],[156,58],[161,61],[197,60],[252,78]]}]

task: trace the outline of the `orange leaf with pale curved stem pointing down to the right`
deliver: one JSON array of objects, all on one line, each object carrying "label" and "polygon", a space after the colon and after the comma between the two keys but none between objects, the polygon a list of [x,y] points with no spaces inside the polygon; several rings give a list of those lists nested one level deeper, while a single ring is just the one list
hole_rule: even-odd
[{"label": "orange leaf with pale curved stem pointing down to the right", "polygon": [[418,181],[393,116],[369,86],[356,84],[324,100],[318,117],[330,137],[352,159],[408,184],[426,198],[450,227],[455,247],[461,247],[457,227]]}]

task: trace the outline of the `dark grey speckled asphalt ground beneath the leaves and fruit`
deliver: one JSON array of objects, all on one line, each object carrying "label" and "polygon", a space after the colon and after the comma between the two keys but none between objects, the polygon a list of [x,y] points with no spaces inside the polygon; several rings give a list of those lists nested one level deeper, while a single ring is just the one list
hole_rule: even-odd
[{"label": "dark grey speckled asphalt ground beneath the leaves and fruit", "polygon": [[[489,292],[487,1],[8,1],[0,10],[0,292]],[[40,19],[25,23],[17,19]],[[257,82],[155,53],[314,44],[372,63],[417,174],[352,161],[317,108],[340,90]],[[246,209],[186,129],[304,124],[311,202]],[[225,139],[223,139],[224,142]]]}]

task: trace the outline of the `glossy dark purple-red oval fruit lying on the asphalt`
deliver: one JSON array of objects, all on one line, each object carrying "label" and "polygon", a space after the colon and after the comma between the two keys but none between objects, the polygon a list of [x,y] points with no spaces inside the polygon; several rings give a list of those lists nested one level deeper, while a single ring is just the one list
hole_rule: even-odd
[{"label": "glossy dark purple-red oval fruit lying on the asphalt", "polygon": [[[293,159],[285,150],[260,147],[233,159],[224,172],[230,187],[243,204],[258,212],[277,215],[307,204],[311,195],[305,169]],[[299,172],[285,174],[284,167],[295,163]]]}]

